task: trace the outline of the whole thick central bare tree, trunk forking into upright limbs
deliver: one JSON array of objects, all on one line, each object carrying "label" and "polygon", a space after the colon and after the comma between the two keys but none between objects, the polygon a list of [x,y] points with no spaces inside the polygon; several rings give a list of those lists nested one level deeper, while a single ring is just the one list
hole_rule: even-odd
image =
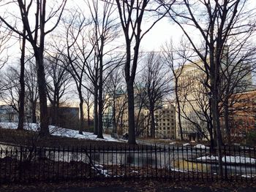
[{"label": "whole thick central bare tree, trunk forking into upright limbs", "polygon": [[[158,4],[151,4],[148,0],[120,1],[116,0],[121,27],[124,31],[126,42],[126,62],[124,67],[125,80],[127,82],[128,93],[128,116],[129,116],[129,144],[135,144],[135,107],[134,107],[134,88],[135,74],[138,64],[138,55],[141,39],[150,29],[165,16],[156,18],[151,25],[142,31],[143,22],[146,16],[152,16],[154,11],[158,11]],[[143,19],[144,17],[144,19]],[[151,18],[152,21],[152,18]],[[132,47],[134,54],[132,54]]]}]

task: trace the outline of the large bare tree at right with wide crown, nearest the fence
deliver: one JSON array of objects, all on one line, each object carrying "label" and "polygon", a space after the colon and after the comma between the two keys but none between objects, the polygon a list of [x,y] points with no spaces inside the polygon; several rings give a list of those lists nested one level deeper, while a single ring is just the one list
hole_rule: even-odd
[{"label": "large bare tree at right with wide crown, nearest the fence", "polygon": [[[203,62],[203,71],[206,74],[204,84],[209,89],[211,97],[211,114],[214,132],[217,135],[217,147],[222,145],[222,132],[219,123],[219,85],[221,82],[220,71],[223,59],[225,59],[225,47],[233,39],[236,39],[235,47],[243,47],[255,31],[255,9],[246,9],[248,1],[225,0],[225,1],[188,1],[182,0],[181,5],[170,7],[162,1],[165,8],[170,10],[168,16],[180,26],[187,39]],[[200,7],[200,9],[198,9]],[[192,38],[195,31],[189,33],[187,26],[194,27],[203,42],[198,46],[197,41]],[[219,174],[222,175],[221,150],[218,150]]]}]

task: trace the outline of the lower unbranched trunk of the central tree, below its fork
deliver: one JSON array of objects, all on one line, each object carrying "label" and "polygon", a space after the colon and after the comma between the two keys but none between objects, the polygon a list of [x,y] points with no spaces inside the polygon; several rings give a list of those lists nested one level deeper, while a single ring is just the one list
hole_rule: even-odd
[{"label": "lower unbranched trunk of the central tree, below its fork", "polygon": [[129,144],[136,144],[133,81],[127,83],[127,94],[128,94],[128,126],[129,126],[128,143]]}]

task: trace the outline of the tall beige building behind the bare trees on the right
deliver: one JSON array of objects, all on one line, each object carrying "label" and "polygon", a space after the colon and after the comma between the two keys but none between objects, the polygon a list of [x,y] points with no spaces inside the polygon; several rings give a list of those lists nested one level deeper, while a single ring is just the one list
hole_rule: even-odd
[{"label": "tall beige building behind the bare trees on the right", "polygon": [[[226,70],[223,70],[225,69]],[[203,72],[203,63],[186,64],[178,79],[178,97],[181,104],[181,126],[185,139],[195,140],[208,137],[208,122],[210,120],[209,99],[211,93],[206,88],[206,73]],[[177,69],[178,70],[178,69]],[[248,64],[227,65],[223,62],[222,77],[233,70],[230,76],[230,94],[249,91],[252,89],[252,74]],[[227,80],[222,80],[221,85],[227,88]],[[223,89],[224,90],[224,89]],[[220,88],[220,91],[222,89]],[[223,92],[223,95],[227,93]],[[178,115],[176,115],[178,116]],[[178,122],[178,121],[177,121]],[[177,138],[180,138],[180,131],[177,125]]]}]

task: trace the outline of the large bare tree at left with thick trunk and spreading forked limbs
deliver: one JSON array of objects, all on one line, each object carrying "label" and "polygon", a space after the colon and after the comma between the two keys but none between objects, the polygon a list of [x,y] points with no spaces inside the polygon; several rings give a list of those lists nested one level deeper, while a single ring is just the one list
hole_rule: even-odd
[{"label": "large bare tree at left with thick trunk and spreading forked limbs", "polygon": [[[54,4],[50,8],[50,12],[47,15],[47,3],[45,0],[26,1],[18,0],[18,7],[20,9],[20,20],[22,20],[23,27],[26,30],[26,36],[23,31],[20,31],[16,26],[12,26],[10,22],[0,16],[0,19],[4,22],[8,28],[19,34],[21,37],[25,37],[31,44],[34,51],[34,57],[37,63],[37,80],[38,80],[38,91],[39,91],[39,104],[40,104],[40,130],[39,134],[42,137],[48,136],[49,133],[49,120],[48,120],[48,107],[47,107],[47,96],[46,96],[46,82],[45,82],[45,69],[43,61],[43,53],[45,50],[45,36],[53,31],[59,24],[62,12],[64,10],[67,0],[61,1],[61,4]],[[16,3],[14,2],[13,5]],[[34,8],[35,18],[31,18],[29,12]],[[45,25],[50,20],[56,18],[56,23],[53,27],[46,29]],[[31,26],[34,26],[32,28]]]}]

